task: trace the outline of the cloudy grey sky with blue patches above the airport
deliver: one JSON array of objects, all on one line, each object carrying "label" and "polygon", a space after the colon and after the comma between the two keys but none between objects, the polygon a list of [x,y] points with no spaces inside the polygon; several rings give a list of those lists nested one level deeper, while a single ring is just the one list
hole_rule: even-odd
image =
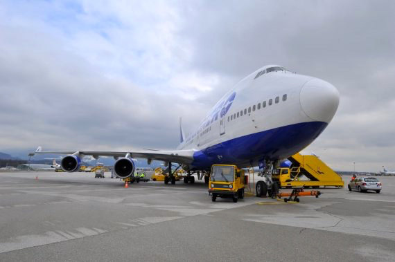
[{"label": "cloudy grey sky with blue patches above the airport", "polygon": [[395,1],[1,1],[0,151],[173,149],[266,64],[335,85],[304,152],[395,169]]}]

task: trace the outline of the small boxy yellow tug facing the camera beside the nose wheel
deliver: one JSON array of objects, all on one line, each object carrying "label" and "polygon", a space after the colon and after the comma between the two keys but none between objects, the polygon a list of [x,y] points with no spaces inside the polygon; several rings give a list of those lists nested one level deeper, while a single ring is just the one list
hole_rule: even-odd
[{"label": "small boxy yellow tug facing the camera beside the nose wheel", "polygon": [[213,165],[209,180],[209,193],[211,200],[217,197],[232,198],[233,202],[244,198],[245,174],[243,169],[236,165]]}]

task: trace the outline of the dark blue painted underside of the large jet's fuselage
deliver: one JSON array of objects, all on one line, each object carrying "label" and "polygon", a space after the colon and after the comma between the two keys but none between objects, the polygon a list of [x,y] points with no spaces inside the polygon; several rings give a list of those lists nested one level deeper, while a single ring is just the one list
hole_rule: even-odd
[{"label": "dark blue painted underside of the large jet's fuselage", "polygon": [[326,122],[290,124],[259,133],[244,135],[207,147],[193,154],[192,169],[210,169],[214,164],[249,167],[258,160],[277,160],[298,153],[328,126]]}]

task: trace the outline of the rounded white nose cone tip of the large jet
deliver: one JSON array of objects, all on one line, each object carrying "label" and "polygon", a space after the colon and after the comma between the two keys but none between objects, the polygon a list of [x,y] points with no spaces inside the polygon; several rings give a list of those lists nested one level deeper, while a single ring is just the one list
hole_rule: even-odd
[{"label": "rounded white nose cone tip of the large jet", "polygon": [[339,91],[328,82],[312,79],[301,88],[301,109],[309,118],[322,122],[330,122],[339,106]]}]

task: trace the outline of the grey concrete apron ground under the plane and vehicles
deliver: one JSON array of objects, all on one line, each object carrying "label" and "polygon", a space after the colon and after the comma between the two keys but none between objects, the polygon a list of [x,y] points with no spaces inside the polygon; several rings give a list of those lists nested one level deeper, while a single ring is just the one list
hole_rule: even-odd
[{"label": "grey concrete apron ground under the plane and vehicles", "polygon": [[395,177],[378,179],[380,194],[213,203],[199,180],[1,172],[0,261],[395,261]]}]

